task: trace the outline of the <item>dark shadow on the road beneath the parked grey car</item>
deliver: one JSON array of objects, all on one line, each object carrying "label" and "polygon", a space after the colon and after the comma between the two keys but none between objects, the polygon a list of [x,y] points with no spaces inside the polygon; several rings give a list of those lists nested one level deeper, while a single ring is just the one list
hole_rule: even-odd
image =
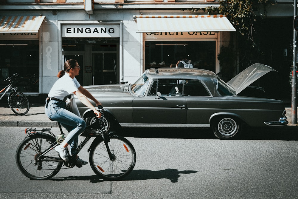
[{"label": "dark shadow on the road beneath the parked grey car", "polygon": [[[135,138],[218,139],[210,128],[123,128],[117,133]],[[243,126],[242,131],[233,139],[298,141],[298,126]]]}]

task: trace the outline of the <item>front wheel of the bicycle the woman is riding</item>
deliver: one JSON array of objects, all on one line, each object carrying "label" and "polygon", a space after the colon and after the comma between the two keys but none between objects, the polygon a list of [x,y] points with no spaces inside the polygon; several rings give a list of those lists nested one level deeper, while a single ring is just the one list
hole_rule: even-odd
[{"label": "front wheel of the bicycle the woman is riding", "polygon": [[115,155],[115,160],[109,158],[105,143],[100,139],[91,146],[89,153],[90,166],[96,175],[105,180],[117,180],[127,176],[136,164],[136,151],[134,146],[124,137],[110,136],[108,146]]}]

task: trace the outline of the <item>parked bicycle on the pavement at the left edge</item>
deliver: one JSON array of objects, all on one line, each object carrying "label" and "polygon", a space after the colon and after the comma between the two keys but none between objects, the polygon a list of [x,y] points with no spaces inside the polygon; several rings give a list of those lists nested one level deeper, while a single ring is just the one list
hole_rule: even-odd
[{"label": "parked bicycle on the pavement at the left edge", "polygon": [[4,80],[8,80],[9,84],[0,91],[1,93],[5,90],[3,95],[1,95],[0,97],[0,100],[4,98],[4,95],[6,95],[7,92],[12,90],[12,92],[10,92],[7,98],[10,109],[17,115],[25,115],[29,111],[30,104],[26,95],[24,95],[24,93],[22,92],[18,92],[18,87],[13,86],[12,79],[16,79],[17,76],[18,74],[15,73],[13,74],[13,76],[8,77]]}]

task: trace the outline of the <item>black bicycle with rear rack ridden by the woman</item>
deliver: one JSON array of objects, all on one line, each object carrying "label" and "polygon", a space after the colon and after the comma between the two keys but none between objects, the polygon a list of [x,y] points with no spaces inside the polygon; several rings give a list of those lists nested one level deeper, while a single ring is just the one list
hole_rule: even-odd
[{"label": "black bicycle with rear rack ridden by the woman", "polygon": [[[103,118],[106,110],[101,106],[98,108]],[[106,120],[101,118],[97,118],[95,123],[85,128],[81,136],[86,138],[77,146],[73,156],[68,155],[67,162],[62,160],[54,149],[64,141],[65,134],[59,122],[61,134],[57,136],[51,132],[51,128],[27,128],[25,131],[28,135],[19,144],[15,154],[18,168],[33,180],[52,178],[62,166],[65,166],[65,169],[74,166],[80,168],[82,165],[77,165],[75,157],[90,138],[95,137],[88,149],[89,162],[94,173],[105,180],[117,180],[127,176],[136,163],[134,146],[115,132],[108,132]]]}]

